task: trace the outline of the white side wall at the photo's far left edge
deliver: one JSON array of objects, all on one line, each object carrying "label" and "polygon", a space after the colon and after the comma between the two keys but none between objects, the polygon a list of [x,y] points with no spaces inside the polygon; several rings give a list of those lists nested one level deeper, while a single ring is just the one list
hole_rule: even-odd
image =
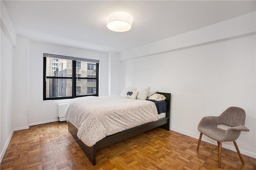
[{"label": "white side wall at the photo's far left edge", "polygon": [[13,46],[16,45],[16,31],[12,25],[3,1],[0,2],[0,162],[13,134]]}]

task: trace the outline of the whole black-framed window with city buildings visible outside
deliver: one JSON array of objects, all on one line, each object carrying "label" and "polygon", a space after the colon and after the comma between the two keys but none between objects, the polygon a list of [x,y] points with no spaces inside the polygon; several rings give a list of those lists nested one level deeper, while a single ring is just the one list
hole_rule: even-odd
[{"label": "whole black-framed window with city buildings visible outside", "polygon": [[43,100],[98,96],[98,70],[98,60],[44,54]]}]

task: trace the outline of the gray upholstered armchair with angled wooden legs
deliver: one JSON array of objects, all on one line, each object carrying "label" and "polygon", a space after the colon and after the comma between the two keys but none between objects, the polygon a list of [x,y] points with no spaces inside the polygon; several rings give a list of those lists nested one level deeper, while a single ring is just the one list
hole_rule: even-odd
[{"label": "gray upholstered armchair with angled wooden legs", "polygon": [[[217,125],[227,125],[230,128],[223,130],[217,127]],[[245,124],[245,111],[240,107],[229,107],[220,116],[206,116],[203,117],[198,124],[198,130],[201,132],[197,150],[199,149],[200,142],[202,139],[202,134],[210,137],[211,139],[217,141],[218,143],[218,168],[220,168],[221,162],[221,145],[222,142],[233,141],[238,155],[241,159],[242,164],[244,160],[240,154],[238,146],[236,144],[236,139],[238,139],[241,131],[249,131]]]}]

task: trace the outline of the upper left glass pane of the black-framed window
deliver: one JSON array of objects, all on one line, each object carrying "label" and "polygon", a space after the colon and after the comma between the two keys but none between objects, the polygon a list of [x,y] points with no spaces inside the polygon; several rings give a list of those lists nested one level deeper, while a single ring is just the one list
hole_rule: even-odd
[{"label": "upper left glass pane of the black-framed window", "polygon": [[72,60],[46,57],[46,76],[72,77]]}]

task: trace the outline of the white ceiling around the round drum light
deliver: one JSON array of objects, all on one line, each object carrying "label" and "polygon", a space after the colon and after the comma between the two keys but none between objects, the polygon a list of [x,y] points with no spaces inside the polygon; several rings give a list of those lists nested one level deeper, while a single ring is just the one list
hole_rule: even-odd
[{"label": "white ceiling around the round drum light", "polygon": [[[4,1],[19,35],[95,49],[125,51],[255,11],[256,1]],[[127,12],[132,29],[113,32],[106,16]]]}]

